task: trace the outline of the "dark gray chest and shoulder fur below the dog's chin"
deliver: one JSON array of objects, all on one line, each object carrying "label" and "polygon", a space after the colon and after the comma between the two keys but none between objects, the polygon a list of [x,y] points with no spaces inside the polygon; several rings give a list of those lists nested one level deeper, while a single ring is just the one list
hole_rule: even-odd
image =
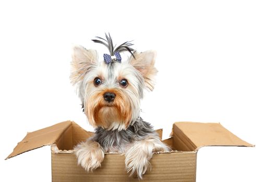
[{"label": "dark gray chest and shoulder fur below the dog's chin", "polygon": [[149,136],[158,137],[153,126],[138,118],[126,130],[107,130],[102,127],[95,129],[95,135],[91,138],[98,142],[105,152],[125,152],[126,147],[133,141],[140,141]]}]

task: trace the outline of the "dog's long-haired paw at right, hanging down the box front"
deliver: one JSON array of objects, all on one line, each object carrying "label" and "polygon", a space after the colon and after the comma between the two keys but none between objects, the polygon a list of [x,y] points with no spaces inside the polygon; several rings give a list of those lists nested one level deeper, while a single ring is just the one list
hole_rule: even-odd
[{"label": "dog's long-haired paw at right, hanging down the box front", "polygon": [[126,171],[130,173],[130,176],[137,174],[139,179],[142,179],[142,175],[151,167],[149,160],[152,154],[150,152],[144,152],[137,146],[131,147],[126,152],[125,166]]}]

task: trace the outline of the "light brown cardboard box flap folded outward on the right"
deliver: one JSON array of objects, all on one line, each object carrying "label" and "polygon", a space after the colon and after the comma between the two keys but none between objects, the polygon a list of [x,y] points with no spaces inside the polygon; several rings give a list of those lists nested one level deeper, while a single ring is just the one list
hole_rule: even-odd
[{"label": "light brown cardboard box flap folded outward on the right", "polygon": [[182,151],[194,151],[203,146],[254,146],[229,132],[220,123],[176,122],[172,135],[174,147]]}]

